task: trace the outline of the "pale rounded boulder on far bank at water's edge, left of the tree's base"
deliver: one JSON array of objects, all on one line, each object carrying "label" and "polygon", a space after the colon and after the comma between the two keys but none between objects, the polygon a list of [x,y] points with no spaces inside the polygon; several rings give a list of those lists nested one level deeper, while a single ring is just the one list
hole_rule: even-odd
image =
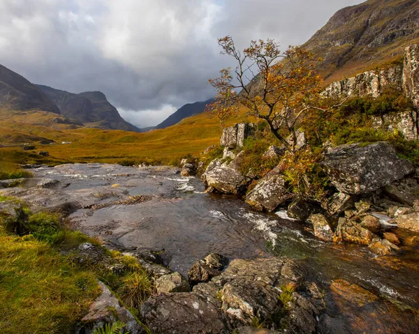
[{"label": "pale rounded boulder on far bank at water's edge, left of the tree's base", "polygon": [[249,179],[230,167],[215,167],[203,174],[208,187],[226,194],[240,195],[246,191]]}]

